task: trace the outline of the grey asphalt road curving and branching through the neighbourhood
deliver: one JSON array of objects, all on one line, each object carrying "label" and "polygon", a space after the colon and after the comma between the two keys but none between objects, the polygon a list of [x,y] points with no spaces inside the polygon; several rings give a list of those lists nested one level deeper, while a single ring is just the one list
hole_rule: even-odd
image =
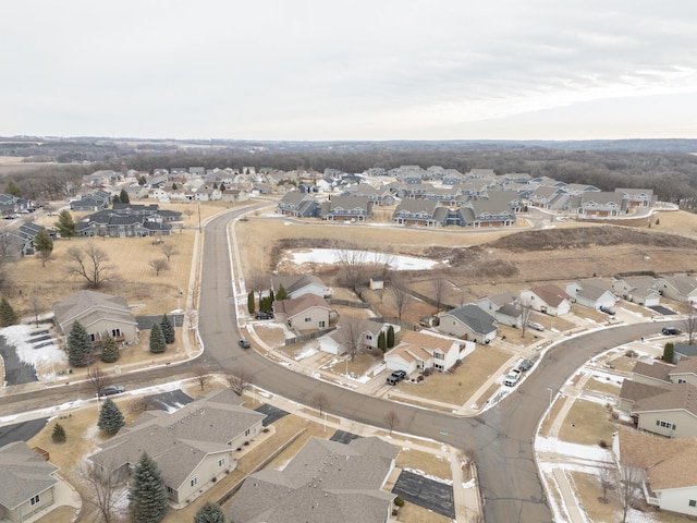
[{"label": "grey asphalt road curving and branching through the neighbourhood", "polygon": [[[549,389],[559,390],[592,355],[657,333],[656,324],[614,327],[565,340],[547,352],[535,373],[517,386],[514,393],[476,417],[458,418],[362,396],[296,374],[237,345],[227,234],[227,226],[236,212],[240,211],[213,218],[206,226],[199,304],[199,330],[206,353],[186,364],[124,375],[120,385],[133,389],[167,382],[193,376],[201,365],[213,372],[243,367],[260,388],[309,405],[315,403],[317,394],[322,393],[329,399],[328,412],[358,423],[387,427],[383,419],[393,410],[400,418],[398,430],[476,451],[488,522],[552,521],[533,459],[533,440],[538,421],[549,404]],[[94,397],[94,390],[89,384],[4,396],[0,397],[0,416],[44,409],[54,405],[57,400],[64,402],[90,397]]]}]

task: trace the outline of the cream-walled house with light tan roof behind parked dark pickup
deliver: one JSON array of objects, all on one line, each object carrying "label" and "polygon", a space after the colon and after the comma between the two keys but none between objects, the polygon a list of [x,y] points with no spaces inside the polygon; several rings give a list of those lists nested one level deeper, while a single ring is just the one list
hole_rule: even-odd
[{"label": "cream-walled house with light tan roof behind parked dark pickup", "polygon": [[426,368],[442,373],[474,350],[473,341],[407,330],[400,344],[384,354],[384,363],[390,370],[404,370],[407,375]]}]

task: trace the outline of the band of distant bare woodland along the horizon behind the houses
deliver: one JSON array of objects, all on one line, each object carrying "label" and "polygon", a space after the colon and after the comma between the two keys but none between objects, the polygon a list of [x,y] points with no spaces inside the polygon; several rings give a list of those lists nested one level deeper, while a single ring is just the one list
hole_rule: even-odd
[{"label": "band of distant bare woodland along the horizon behind the houses", "polygon": [[[568,148],[564,148],[564,144]],[[332,168],[345,172],[364,172],[372,167],[393,169],[417,165],[423,168],[441,166],[462,173],[474,168],[489,168],[498,174],[527,172],[533,177],[590,184],[603,191],[615,187],[652,188],[662,200],[693,208],[697,203],[697,156],[674,151],[676,149],[697,150],[697,143],[197,141],[184,144],[173,141],[115,142],[102,138],[46,142],[26,138],[0,143],[0,156],[21,156],[27,161],[64,163],[61,179],[64,179],[65,171],[82,175],[86,171],[98,169],[152,172],[157,168],[193,166],[207,169],[250,166],[257,170],[271,168],[320,172]],[[46,166],[46,169],[54,169],[54,166]],[[5,181],[13,179],[13,175],[17,178],[19,172],[5,174]],[[21,177],[26,180],[27,173],[23,170]]]}]

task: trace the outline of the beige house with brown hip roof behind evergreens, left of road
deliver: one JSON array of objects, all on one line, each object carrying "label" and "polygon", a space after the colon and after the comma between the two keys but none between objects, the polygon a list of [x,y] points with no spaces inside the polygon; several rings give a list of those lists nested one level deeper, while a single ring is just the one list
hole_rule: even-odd
[{"label": "beige house with brown hip roof behind evergreens, left of road", "polygon": [[135,317],[121,296],[78,291],[53,304],[53,323],[62,336],[70,335],[75,321],[80,321],[93,341],[101,340],[107,333],[129,344],[138,341]]}]

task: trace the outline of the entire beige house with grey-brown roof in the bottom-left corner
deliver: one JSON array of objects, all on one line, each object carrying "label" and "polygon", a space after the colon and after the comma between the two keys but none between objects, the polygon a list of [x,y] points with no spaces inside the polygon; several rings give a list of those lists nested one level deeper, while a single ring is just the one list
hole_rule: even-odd
[{"label": "entire beige house with grey-brown roof in the bottom-left corner", "polygon": [[56,501],[59,467],[24,441],[0,447],[0,521],[21,523]]}]

